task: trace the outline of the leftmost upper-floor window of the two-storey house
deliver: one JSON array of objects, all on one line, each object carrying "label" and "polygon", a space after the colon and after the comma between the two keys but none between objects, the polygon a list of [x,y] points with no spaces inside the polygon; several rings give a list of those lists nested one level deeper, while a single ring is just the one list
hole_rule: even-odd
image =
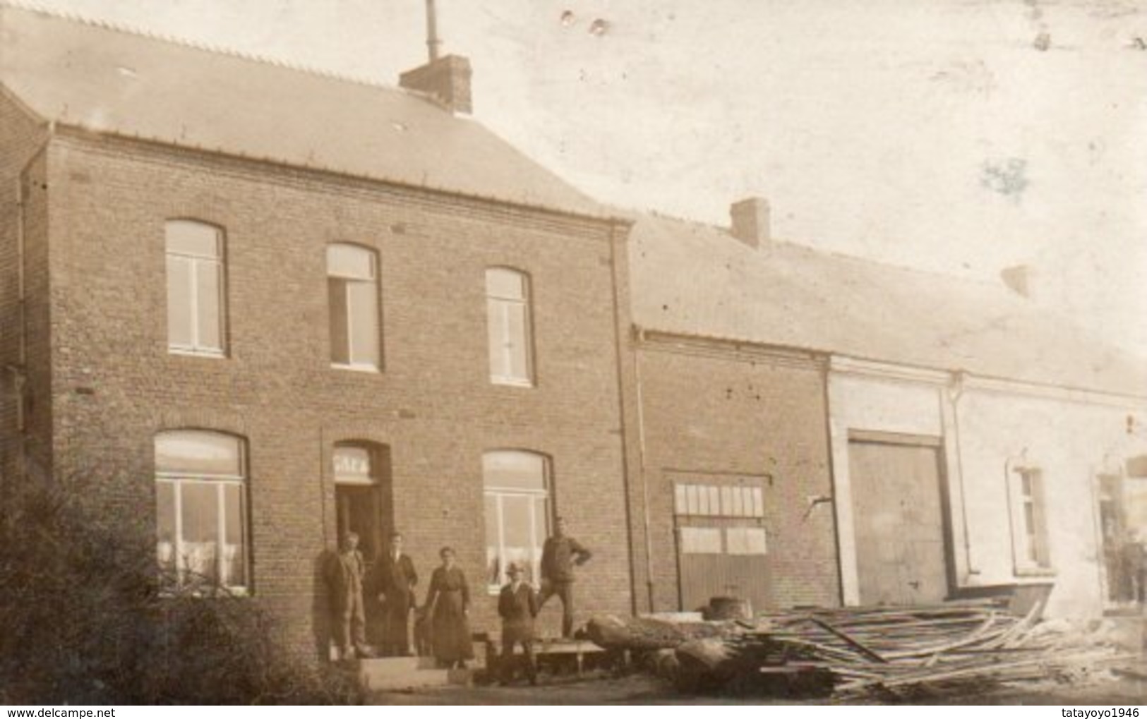
[{"label": "leftmost upper-floor window of the two-storey house", "polygon": [[169,220],[165,235],[167,347],[175,352],[224,354],[227,300],[223,230],[192,220]]}]

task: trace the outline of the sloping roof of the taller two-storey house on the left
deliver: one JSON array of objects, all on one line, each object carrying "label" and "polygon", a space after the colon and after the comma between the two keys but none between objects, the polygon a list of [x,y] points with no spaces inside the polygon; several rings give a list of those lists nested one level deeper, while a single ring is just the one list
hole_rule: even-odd
[{"label": "sloping roof of the taller two-storey house on the left", "polygon": [[0,1],[0,85],[44,120],[606,217],[477,122],[420,94]]}]

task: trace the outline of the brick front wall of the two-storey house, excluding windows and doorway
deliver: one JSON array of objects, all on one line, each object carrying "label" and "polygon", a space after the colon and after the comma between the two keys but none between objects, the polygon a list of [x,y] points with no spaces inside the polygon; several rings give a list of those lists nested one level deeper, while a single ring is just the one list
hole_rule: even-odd
[{"label": "brick front wall of the two-storey house, excluding windows and doorway", "polygon": [[[622,240],[608,224],[64,135],[49,163],[58,471],[115,468],[101,501],[149,524],[157,430],[243,436],[255,594],[283,618],[292,646],[311,651],[325,624],[317,561],[335,544],[335,441],[389,446],[397,526],[426,579],[440,546],[458,549],[476,631],[494,628],[496,617],[482,579],[482,453],[531,450],[552,459],[556,510],[594,549],[582,572],[584,612],[629,610],[611,269]],[[226,359],[167,353],[169,218],[226,229]],[[381,373],[329,366],[330,242],[379,252]],[[489,381],[491,265],[531,276],[533,389]],[[547,605],[544,622],[555,626],[559,614]]]}]

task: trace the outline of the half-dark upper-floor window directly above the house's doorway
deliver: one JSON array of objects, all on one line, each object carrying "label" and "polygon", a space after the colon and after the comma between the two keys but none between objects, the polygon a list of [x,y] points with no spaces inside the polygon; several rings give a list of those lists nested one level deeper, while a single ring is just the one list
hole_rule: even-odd
[{"label": "half-dark upper-floor window directly above the house's doorway", "polygon": [[353,244],[327,248],[330,364],[379,369],[377,256]]}]

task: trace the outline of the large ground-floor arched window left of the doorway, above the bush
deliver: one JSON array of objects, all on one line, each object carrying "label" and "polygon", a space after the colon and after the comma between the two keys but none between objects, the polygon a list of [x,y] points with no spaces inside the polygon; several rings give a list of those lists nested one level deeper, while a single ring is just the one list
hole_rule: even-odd
[{"label": "large ground-floor arched window left of the doorway, above the bush", "polygon": [[178,585],[249,586],[243,440],[205,430],[155,437],[156,556]]}]

